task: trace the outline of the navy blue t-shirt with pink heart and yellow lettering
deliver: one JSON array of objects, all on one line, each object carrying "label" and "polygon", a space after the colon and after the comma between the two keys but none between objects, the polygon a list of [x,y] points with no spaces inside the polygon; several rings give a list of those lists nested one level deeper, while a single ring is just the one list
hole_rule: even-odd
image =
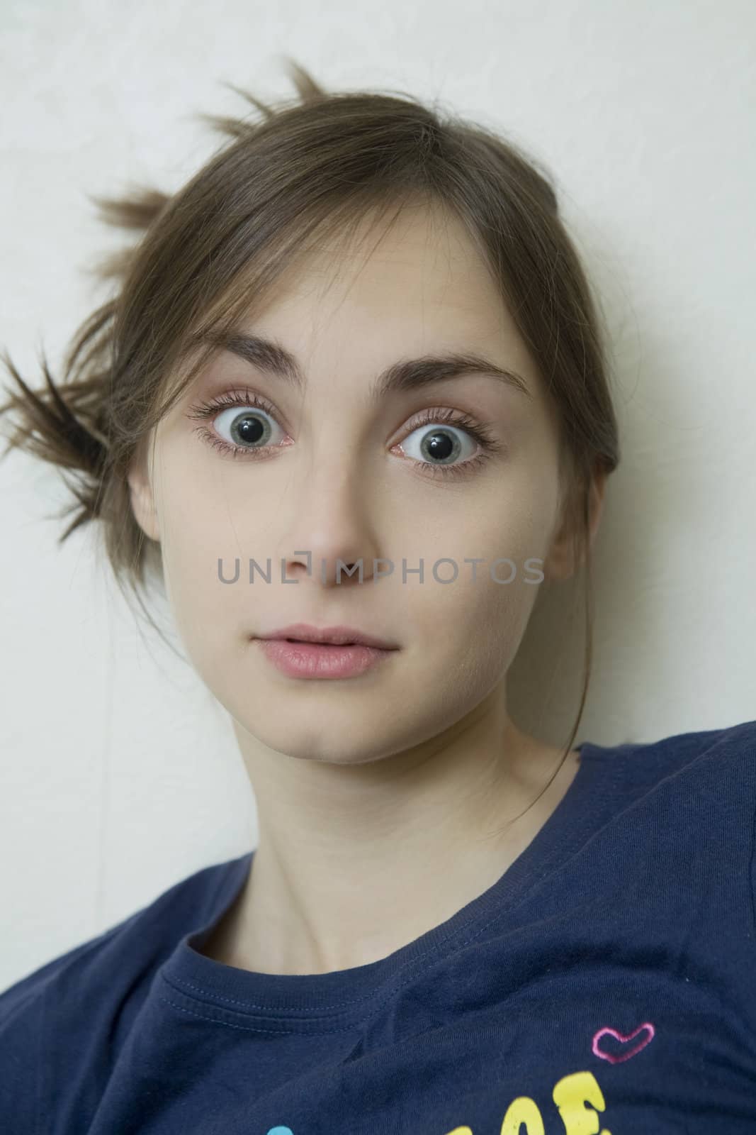
[{"label": "navy blue t-shirt with pink heart and yellow lettering", "polygon": [[314,975],[197,952],[254,854],[206,867],[0,994],[0,1130],[754,1135],[755,819],[756,721],[586,742],[493,886]]}]

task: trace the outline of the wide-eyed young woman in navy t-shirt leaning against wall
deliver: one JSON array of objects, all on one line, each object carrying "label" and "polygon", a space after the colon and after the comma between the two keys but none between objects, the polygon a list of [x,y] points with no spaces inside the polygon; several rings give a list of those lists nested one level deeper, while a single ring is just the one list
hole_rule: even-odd
[{"label": "wide-eyed young woman in navy t-shirt leaning against wall", "polygon": [[562,749],[507,674],[619,461],[546,176],[409,98],[220,120],[11,445],[230,714],[256,849],[0,995],[3,1130],[756,1129],[756,722]]}]

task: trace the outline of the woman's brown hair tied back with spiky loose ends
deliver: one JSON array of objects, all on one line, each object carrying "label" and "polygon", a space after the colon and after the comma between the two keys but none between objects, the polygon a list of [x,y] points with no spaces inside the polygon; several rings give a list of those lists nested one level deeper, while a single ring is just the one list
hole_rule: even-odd
[{"label": "woman's brown hair tied back with spiky loose ends", "polygon": [[[459,217],[500,287],[550,392],[561,423],[564,485],[586,564],[583,715],[592,658],[588,493],[593,472],[619,463],[597,308],[546,175],[492,131],[401,93],[326,93],[288,60],[298,99],[272,108],[246,91],[262,118],[201,116],[230,136],[172,196],[154,188],[93,199],[111,225],[142,235],[100,262],[113,299],[76,331],[56,386],[18,384],[0,413],[19,424],[9,446],[74,471],[76,502],[62,543],[101,521],[116,579],[141,598],[161,578],[159,545],[131,511],[127,472],[153,427],[230,331],[308,241],[345,233],[369,211],[394,218],[408,202]],[[229,84],[231,85],[231,84]],[[199,339],[205,350],[197,355]],[[167,376],[195,356],[178,384]],[[63,513],[65,514],[65,513]],[[576,563],[579,563],[576,560]],[[144,609],[144,605],[143,605]]]}]

